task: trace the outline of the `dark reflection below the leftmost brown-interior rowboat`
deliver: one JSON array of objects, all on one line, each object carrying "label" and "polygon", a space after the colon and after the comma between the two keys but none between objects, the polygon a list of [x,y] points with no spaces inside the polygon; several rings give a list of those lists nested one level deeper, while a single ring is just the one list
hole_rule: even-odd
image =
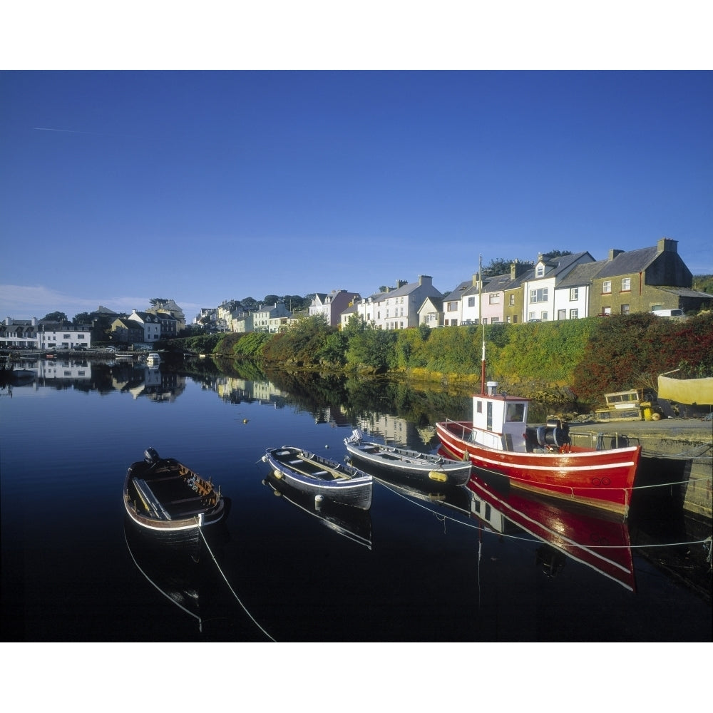
[{"label": "dark reflection below the leftmost brown-interior rowboat", "polygon": [[[227,529],[219,523],[210,530],[207,541],[215,553],[227,542]],[[175,533],[154,533],[140,528],[125,515],[124,536],[128,553],[147,582],[185,615],[193,617],[202,632],[210,607],[215,605],[220,574],[201,533],[187,533],[180,538]]]}]

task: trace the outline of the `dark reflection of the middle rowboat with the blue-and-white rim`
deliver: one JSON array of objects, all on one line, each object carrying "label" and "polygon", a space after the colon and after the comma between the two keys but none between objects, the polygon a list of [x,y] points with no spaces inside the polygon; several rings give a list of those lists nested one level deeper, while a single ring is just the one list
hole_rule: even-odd
[{"label": "dark reflection of the middle rowboat with the blue-and-white rim", "polygon": [[284,480],[278,480],[270,473],[262,481],[279,499],[298,508],[307,515],[317,518],[322,524],[371,550],[371,515],[369,511],[352,508],[329,501],[321,496],[310,496],[289,486]]}]

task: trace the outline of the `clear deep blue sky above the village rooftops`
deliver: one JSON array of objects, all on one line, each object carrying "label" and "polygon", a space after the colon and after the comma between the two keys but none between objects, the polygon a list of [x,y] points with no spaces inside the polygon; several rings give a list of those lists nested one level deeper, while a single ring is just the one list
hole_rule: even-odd
[{"label": "clear deep blue sky above the village rooftops", "polygon": [[713,273],[709,71],[3,71],[0,318],[678,241]]}]

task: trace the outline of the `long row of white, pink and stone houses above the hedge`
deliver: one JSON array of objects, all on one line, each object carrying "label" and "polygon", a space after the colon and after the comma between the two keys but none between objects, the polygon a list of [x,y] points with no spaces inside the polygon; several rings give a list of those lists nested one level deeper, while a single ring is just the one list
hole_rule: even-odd
[{"label": "long row of white, pink and stone houses above the hedge", "polygon": [[[342,327],[357,317],[379,329],[407,329],[709,308],[711,295],[692,289],[692,273],[677,246],[676,240],[662,238],[641,250],[610,250],[606,260],[595,260],[589,252],[552,258],[540,254],[534,267],[513,262],[504,275],[481,279],[475,273],[445,294],[430,275],[415,282],[398,280],[395,287],[369,297],[346,289],[318,292],[309,315],[324,314],[328,324]],[[279,332],[294,319],[284,304],[247,312],[239,302],[218,307],[215,318],[229,332]]]}]

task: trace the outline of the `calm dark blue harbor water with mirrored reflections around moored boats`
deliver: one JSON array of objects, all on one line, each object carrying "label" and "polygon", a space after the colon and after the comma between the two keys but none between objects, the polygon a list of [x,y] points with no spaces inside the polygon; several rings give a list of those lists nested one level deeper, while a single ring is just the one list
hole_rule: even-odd
[{"label": "calm dark blue harbor water with mirrored reflections around moored boats", "polygon": [[[369,513],[315,511],[261,461],[281,445],[342,460],[354,426],[431,450],[429,426],[465,416],[468,399],[206,365],[200,375],[169,364],[26,366],[37,376],[0,392],[6,641],[712,638],[709,602],[647,549],[682,532],[681,513],[660,503],[672,527],[658,515],[645,530],[650,518],[633,508],[612,522],[476,478],[431,493],[377,481]],[[195,548],[125,522],[125,471],[148,446],[229,498],[225,522]]]}]

